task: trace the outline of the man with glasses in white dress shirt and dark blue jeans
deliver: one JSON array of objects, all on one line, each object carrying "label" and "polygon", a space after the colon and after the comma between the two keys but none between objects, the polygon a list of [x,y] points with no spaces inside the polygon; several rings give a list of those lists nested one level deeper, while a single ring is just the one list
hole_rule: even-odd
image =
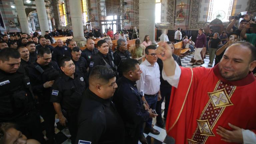
[{"label": "man with glasses in white dress shirt and dark blue jeans", "polygon": [[[141,79],[138,80],[137,88],[139,92],[142,92],[142,100],[152,110],[156,109],[157,101],[161,100],[160,94],[160,70],[157,64],[156,47],[150,45],[146,47],[146,60],[140,64],[142,70]],[[152,118],[149,118],[146,122],[145,132],[151,132],[152,134],[159,135],[160,132],[152,128]]]}]

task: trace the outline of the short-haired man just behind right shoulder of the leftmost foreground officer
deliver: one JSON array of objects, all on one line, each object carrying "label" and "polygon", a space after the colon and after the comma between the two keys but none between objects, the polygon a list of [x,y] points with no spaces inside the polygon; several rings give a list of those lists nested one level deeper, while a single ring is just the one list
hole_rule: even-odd
[{"label": "short-haired man just behind right shoulder of the leftmost foreground officer", "polygon": [[20,64],[25,68],[28,65],[31,64],[31,62],[29,61],[29,51],[26,47],[24,46],[20,46],[17,48],[17,50],[20,53],[20,58],[21,58],[21,62]]}]

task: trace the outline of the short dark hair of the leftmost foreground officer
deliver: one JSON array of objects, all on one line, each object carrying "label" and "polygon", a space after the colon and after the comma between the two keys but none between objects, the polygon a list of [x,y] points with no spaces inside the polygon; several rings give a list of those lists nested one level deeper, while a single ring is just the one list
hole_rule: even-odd
[{"label": "short dark hair of the leftmost foreground officer", "polygon": [[5,48],[0,51],[0,60],[2,62],[9,61],[10,58],[20,58],[20,53],[13,48]]}]

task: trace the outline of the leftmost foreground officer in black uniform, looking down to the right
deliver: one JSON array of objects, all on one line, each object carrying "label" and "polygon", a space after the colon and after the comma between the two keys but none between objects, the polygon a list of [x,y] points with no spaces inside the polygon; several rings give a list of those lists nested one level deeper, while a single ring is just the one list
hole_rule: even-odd
[{"label": "leftmost foreground officer in black uniform, looking down to the right", "polygon": [[29,139],[45,143],[29,77],[16,49],[0,51],[0,123],[11,122]]}]

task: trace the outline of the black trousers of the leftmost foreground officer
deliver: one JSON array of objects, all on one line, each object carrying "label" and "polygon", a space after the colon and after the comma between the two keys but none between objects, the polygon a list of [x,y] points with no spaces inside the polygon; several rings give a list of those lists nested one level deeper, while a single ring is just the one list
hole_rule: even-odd
[{"label": "black trousers of the leftmost foreground officer", "polygon": [[17,130],[21,131],[28,139],[36,139],[41,144],[45,143],[39,112],[36,109],[30,111],[27,115],[9,122],[16,124]]}]

